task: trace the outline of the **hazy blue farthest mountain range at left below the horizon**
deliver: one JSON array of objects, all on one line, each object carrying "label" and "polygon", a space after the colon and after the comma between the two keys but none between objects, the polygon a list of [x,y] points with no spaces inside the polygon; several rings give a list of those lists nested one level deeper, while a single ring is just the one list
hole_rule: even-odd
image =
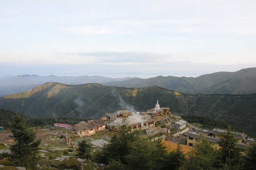
[{"label": "hazy blue farthest mountain range at left below the horizon", "polygon": [[25,92],[46,82],[60,82],[70,85],[81,85],[87,83],[106,83],[110,81],[122,81],[133,77],[110,78],[103,76],[0,76],[0,96]]}]

